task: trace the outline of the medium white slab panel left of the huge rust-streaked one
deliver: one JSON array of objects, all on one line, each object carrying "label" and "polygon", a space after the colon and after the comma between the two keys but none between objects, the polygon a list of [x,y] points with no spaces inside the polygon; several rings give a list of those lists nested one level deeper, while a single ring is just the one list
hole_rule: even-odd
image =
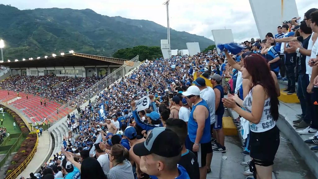
[{"label": "medium white slab panel left of the huge rust-streaked one", "polygon": [[[213,35],[215,45],[234,42],[231,29],[212,30],[212,35]],[[220,49],[217,48],[217,50],[218,50],[218,53],[220,53]]]}]

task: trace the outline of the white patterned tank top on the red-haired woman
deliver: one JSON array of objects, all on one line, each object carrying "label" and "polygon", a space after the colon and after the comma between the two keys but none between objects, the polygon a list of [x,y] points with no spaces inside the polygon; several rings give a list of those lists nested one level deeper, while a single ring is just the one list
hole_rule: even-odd
[{"label": "white patterned tank top on the red-haired woman", "polygon": [[[253,89],[254,87],[248,92],[248,95],[244,98],[244,101],[243,101],[244,108],[249,112],[252,112]],[[250,123],[250,129],[252,132],[266,132],[271,130],[273,127],[275,127],[275,121],[270,112],[270,109],[271,109],[270,102],[271,102],[270,97],[265,100],[262,117],[260,118],[259,123],[258,124]]]}]

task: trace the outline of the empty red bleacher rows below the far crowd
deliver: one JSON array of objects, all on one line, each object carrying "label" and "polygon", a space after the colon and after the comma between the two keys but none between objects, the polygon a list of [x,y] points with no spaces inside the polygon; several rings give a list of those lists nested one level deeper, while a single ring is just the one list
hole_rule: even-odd
[{"label": "empty red bleacher rows below the far crowd", "polygon": [[[34,96],[32,94],[28,94],[28,99],[26,99],[26,93],[19,92],[19,97],[17,96],[17,92],[8,90],[0,90],[0,96],[2,103],[7,103],[17,108],[20,111],[30,118],[33,123],[40,122],[44,117],[51,116],[47,120],[50,122],[54,122],[58,119],[57,108],[62,105],[52,101],[51,99]],[[40,100],[42,99],[42,105]],[[46,106],[44,106],[44,101],[46,101]],[[60,115],[67,115],[71,109],[63,108],[59,109]]]}]

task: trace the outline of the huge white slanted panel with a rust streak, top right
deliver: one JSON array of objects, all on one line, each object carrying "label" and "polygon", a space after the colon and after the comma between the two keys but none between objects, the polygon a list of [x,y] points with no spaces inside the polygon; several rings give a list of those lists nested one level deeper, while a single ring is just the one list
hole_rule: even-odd
[{"label": "huge white slanted panel with a rust streak, top right", "polygon": [[275,35],[283,21],[299,17],[295,0],[249,1],[261,39],[265,39],[268,32]]}]

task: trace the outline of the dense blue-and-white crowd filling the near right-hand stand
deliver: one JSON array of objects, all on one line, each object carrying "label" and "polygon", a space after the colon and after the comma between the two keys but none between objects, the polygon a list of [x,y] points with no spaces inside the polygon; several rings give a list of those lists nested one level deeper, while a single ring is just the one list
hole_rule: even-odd
[{"label": "dense blue-and-white crowd filling the near right-hand stand", "polygon": [[[298,133],[314,134],[305,143],[318,144],[318,10],[308,10],[299,24],[296,20],[278,26],[275,36],[268,33],[264,40],[244,42],[238,54],[226,47],[221,49],[223,54],[213,49],[193,57],[144,62],[100,93],[95,102],[78,108],[78,118],[69,116],[70,135],[61,154],[55,154],[36,175],[205,179],[213,152],[226,152],[222,116],[227,107],[240,115],[234,122],[246,142],[242,153],[252,158],[241,163],[250,166],[244,174],[253,175],[249,179],[272,178],[280,144],[275,124],[278,80],[285,80],[285,75],[287,94],[296,92],[298,79],[303,114],[294,123],[304,128]],[[292,70],[296,66],[297,73]],[[213,88],[207,86],[209,81]],[[149,108],[136,109],[135,101],[147,95]],[[317,151],[318,146],[311,149]]]}]

